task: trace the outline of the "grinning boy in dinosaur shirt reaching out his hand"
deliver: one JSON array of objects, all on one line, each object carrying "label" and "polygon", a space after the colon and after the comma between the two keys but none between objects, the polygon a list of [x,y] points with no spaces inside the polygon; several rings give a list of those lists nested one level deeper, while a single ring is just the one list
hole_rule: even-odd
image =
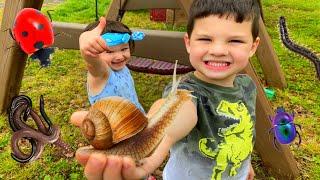
[{"label": "grinning boy in dinosaur shirt reaching out his hand", "polygon": [[259,18],[258,0],[194,0],[184,41],[195,71],[178,88],[192,91],[195,98],[181,107],[142,166],[128,157],[88,155],[79,149],[76,157],[86,176],[138,179],[154,171],[170,149],[165,180],[253,179],[256,87],[238,73],[258,47]]}]

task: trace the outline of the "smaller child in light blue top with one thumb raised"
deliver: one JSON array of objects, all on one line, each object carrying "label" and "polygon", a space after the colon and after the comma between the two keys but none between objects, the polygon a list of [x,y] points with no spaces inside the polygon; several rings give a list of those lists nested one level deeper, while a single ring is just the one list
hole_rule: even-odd
[{"label": "smaller child in light blue top with one thumb raised", "polygon": [[[100,21],[88,25],[80,35],[80,52],[88,69],[87,91],[90,104],[109,96],[120,96],[129,99],[144,112],[138,101],[133,78],[126,67],[134,41],[130,38],[128,43],[108,46],[101,37],[105,33],[128,34],[128,37],[132,35],[126,25],[117,21],[106,21],[103,17]],[[86,114],[87,111],[75,112],[71,121],[74,122]]]}]

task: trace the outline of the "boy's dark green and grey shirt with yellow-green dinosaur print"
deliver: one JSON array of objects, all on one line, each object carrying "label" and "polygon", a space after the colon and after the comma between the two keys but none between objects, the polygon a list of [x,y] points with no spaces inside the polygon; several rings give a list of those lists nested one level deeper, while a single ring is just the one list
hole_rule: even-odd
[{"label": "boy's dark green and grey shirt with yellow-green dinosaur print", "polygon": [[[164,91],[164,97],[171,85]],[[234,87],[222,87],[185,75],[180,89],[196,98],[196,127],[170,149],[164,179],[246,179],[255,142],[256,86],[238,75]]]}]

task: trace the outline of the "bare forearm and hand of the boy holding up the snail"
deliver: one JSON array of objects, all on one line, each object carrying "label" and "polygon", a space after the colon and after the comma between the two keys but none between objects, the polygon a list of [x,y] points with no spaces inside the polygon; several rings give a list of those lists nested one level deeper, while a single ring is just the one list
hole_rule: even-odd
[{"label": "bare forearm and hand of the boy holding up the snail", "polygon": [[[157,101],[149,112],[155,112],[163,101]],[[197,110],[192,101],[186,102],[179,110],[175,121],[168,128],[165,137],[151,156],[141,160],[137,167],[128,157],[105,156],[92,153],[84,154],[81,148],[76,153],[80,164],[85,166],[84,174],[88,179],[141,179],[158,168],[168,155],[170,147],[185,137],[197,123]]]}]

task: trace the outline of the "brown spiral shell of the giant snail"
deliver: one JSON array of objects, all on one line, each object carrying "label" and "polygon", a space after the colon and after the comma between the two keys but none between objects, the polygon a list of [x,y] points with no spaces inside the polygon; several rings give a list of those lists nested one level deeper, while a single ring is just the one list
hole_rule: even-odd
[{"label": "brown spiral shell of the giant snail", "polygon": [[94,148],[104,150],[134,136],[147,124],[147,117],[129,100],[109,97],[91,106],[81,130]]}]

